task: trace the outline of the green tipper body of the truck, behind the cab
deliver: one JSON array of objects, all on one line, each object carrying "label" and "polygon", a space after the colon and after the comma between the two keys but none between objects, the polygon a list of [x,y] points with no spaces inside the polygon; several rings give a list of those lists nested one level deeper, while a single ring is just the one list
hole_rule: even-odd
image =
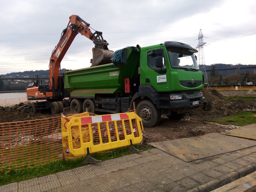
[{"label": "green tipper body of the truck, behind the cab", "polygon": [[124,63],[113,63],[65,72],[64,89],[70,97],[86,97],[95,94],[124,94],[124,78],[138,76],[140,51],[136,47],[125,48]]}]

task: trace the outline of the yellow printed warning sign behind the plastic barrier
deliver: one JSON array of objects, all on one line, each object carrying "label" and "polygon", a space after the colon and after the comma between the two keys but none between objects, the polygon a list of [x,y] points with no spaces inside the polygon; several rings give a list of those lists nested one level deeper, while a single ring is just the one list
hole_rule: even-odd
[{"label": "yellow printed warning sign behind the plastic barrier", "polygon": [[[67,131],[67,124],[72,118],[80,118],[80,117],[86,117],[89,116],[88,112],[80,113],[80,114],[75,114],[71,116],[64,116],[61,114],[61,132],[66,132]],[[82,142],[86,143],[90,141],[89,138],[89,128],[87,125],[81,127],[81,131],[83,133],[82,137]],[[78,126],[73,126],[71,128],[71,138],[72,138],[72,148],[77,149],[81,147],[81,142],[80,142],[80,135],[79,135],[79,127]],[[77,158],[77,156],[73,156],[69,152],[69,143],[68,143],[68,136],[63,136],[62,135],[62,146],[63,146],[63,154],[65,158]],[[83,156],[83,155],[81,155]],[[81,157],[79,156],[79,157]]]}]

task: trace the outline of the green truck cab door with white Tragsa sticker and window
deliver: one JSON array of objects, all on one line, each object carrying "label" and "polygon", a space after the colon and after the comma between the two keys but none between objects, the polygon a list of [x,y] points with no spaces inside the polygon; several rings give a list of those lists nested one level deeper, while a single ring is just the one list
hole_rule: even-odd
[{"label": "green truck cab door with white Tragsa sticker and window", "polygon": [[[145,63],[145,68],[147,68],[148,66],[148,68],[145,70],[146,85],[151,85],[158,92],[169,91],[170,76],[169,69],[166,66],[163,49],[154,49],[147,51],[146,57],[147,63]],[[160,60],[162,60],[161,65]]]}]

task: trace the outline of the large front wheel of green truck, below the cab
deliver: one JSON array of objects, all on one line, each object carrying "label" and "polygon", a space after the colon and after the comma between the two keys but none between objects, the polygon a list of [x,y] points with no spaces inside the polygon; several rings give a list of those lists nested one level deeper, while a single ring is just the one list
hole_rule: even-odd
[{"label": "large front wheel of green truck, below the cab", "polygon": [[143,100],[136,107],[144,127],[154,127],[161,119],[161,111],[149,100]]}]

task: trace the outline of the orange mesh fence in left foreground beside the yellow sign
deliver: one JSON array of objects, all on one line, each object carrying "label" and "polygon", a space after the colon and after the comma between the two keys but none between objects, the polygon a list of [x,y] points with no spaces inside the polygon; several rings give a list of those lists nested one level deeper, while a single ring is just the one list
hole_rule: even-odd
[{"label": "orange mesh fence in left foreground beside the yellow sign", "polygon": [[0,123],[3,170],[43,165],[62,157],[61,118]]}]

